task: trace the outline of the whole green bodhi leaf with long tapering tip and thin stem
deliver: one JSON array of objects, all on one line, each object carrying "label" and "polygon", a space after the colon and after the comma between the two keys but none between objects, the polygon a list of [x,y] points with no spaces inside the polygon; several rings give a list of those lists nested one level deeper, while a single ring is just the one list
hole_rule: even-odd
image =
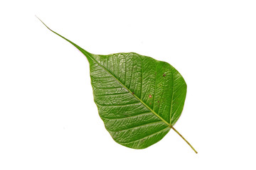
[{"label": "whole green bodhi leaf with long tapering tip and thin stem", "polygon": [[93,55],[64,39],[90,63],[94,101],[115,142],[144,149],[159,142],[171,128],[178,133],[174,124],[183,110],[186,82],[171,64],[134,52]]}]

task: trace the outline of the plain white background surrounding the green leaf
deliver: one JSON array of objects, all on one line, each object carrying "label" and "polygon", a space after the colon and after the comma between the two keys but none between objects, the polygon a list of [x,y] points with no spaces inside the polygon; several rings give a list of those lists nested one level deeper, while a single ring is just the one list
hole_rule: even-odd
[{"label": "plain white background surrounding the green leaf", "polygon": [[[256,169],[256,2],[1,1],[0,169]],[[175,128],[118,145],[97,113],[85,50],[137,52],[188,84]]]}]

